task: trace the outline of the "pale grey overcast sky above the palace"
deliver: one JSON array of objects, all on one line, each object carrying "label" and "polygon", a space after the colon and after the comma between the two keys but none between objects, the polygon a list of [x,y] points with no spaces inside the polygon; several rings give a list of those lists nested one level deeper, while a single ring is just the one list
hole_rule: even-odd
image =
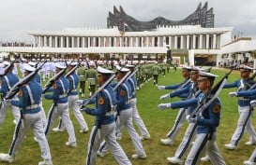
[{"label": "pale grey overcast sky above the palace", "polygon": [[[64,28],[106,27],[109,11],[122,6],[139,21],[158,16],[179,21],[205,0],[2,0],[0,41],[32,42],[28,31],[54,31]],[[208,0],[214,8],[215,27],[233,27],[233,34],[256,39],[255,0]]]}]

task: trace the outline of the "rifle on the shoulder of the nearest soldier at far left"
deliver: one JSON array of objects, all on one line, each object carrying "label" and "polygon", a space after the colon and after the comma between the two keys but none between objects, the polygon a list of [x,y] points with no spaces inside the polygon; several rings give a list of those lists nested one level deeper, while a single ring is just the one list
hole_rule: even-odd
[{"label": "rifle on the shoulder of the nearest soldier at far left", "polygon": [[38,74],[38,71],[44,65],[46,61],[44,61],[35,71],[31,72],[28,76],[23,77],[19,82],[17,82],[9,91],[5,100],[12,99],[16,93],[18,93],[19,89],[24,85],[27,84],[34,76]]}]

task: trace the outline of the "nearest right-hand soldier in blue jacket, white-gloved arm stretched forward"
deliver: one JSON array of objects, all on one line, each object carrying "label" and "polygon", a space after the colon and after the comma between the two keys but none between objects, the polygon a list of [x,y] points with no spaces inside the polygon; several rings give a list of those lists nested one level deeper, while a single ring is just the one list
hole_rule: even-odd
[{"label": "nearest right-hand soldier in blue jacket, white-gloved arm stretched forward", "polygon": [[160,109],[165,109],[179,108],[184,106],[196,107],[198,104],[207,103],[207,106],[205,106],[203,111],[199,115],[197,115],[197,117],[187,117],[189,123],[196,123],[197,136],[192,148],[188,153],[185,165],[198,164],[199,158],[201,158],[203,151],[206,151],[212,164],[225,165],[225,161],[221,157],[218,150],[218,145],[216,143],[216,132],[219,125],[221,103],[218,98],[215,98],[213,100],[204,100],[204,98],[207,97],[207,94],[210,93],[212,89],[215,77],[215,75],[210,73],[200,73],[197,81],[198,88],[203,91],[203,94],[201,94],[196,99],[181,101],[178,103],[161,103],[158,105]]}]

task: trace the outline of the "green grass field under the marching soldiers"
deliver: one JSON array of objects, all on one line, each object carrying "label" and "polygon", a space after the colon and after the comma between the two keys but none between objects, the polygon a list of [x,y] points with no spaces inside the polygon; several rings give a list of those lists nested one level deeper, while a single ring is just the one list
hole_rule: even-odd
[{"label": "green grass field under the marching soldiers", "polygon": [[[213,69],[212,73],[218,75],[217,81],[220,77],[228,72],[227,70]],[[228,82],[239,78],[237,71],[234,71],[231,76],[229,76]],[[183,80],[181,77],[181,70],[178,70],[176,74],[171,70],[170,74],[166,77],[159,76],[158,85],[170,85],[180,83]],[[245,133],[237,150],[227,150],[224,148],[224,144],[229,144],[233,131],[236,128],[238,112],[236,98],[230,98],[228,93],[234,91],[235,89],[223,89],[220,93],[220,99],[222,102],[221,110],[221,121],[218,127],[218,147],[220,149],[222,157],[225,159],[227,165],[241,165],[243,160],[247,160],[251,153],[253,152],[255,146],[245,145],[248,142],[248,134]],[[137,107],[143,117],[143,121],[151,134],[151,139],[143,141],[143,147],[147,154],[147,158],[144,160],[134,160],[131,155],[135,153],[132,143],[128,137],[127,131],[123,131],[123,139],[119,141],[123,149],[128,155],[134,165],[161,165],[168,164],[166,158],[173,157],[175,149],[180,143],[184,131],[186,130],[188,123],[185,123],[182,130],[178,133],[173,145],[162,145],[159,140],[161,138],[166,138],[166,134],[173,127],[173,122],[177,114],[177,110],[168,109],[165,111],[158,110],[158,103],[170,103],[178,101],[179,99],[173,98],[167,101],[160,101],[159,97],[163,94],[170,92],[170,90],[158,90],[153,82],[146,83],[143,89],[137,91],[138,103]],[[87,92],[88,93],[88,92]],[[86,94],[87,94],[86,93]],[[50,101],[44,101],[43,103],[45,111],[47,112],[51,106]],[[94,117],[83,114],[84,118],[91,129],[94,124]],[[70,148],[65,145],[68,141],[68,133],[65,132],[51,132],[49,138],[49,144],[51,147],[51,153],[53,157],[54,165],[83,165],[85,162],[85,157],[87,153],[87,143],[89,139],[90,132],[80,133],[80,127],[77,120],[70,113],[70,117],[73,120],[76,137],[77,137],[77,148]],[[253,118],[254,119],[254,118]],[[5,123],[0,130],[0,153],[8,153],[8,148],[12,140],[14,124],[12,123],[13,117],[8,111]],[[255,125],[255,121],[253,120]],[[57,121],[55,122],[55,125]],[[19,149],[18,156],[16,158],[15,165],[36,165],[40,158],[40,151],[38,144],[33,139],[34,135],[32,131],[29,131],[26,138]],[[8,164],[0,162],[0,164]],[[108,152],[105,158],[98,158],[97,164],[104,165],[114,165],[117,162],[114,160],[112,154]],[[200,163],[200,164],[210,164],[210,163]]]}]

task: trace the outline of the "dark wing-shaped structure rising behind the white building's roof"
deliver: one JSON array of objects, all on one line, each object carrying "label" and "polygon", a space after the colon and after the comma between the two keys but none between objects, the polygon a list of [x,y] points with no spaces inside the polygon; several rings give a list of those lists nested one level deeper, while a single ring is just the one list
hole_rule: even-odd
[{"label": "dark wing-shaped structure rising behind the white building's roof", "polygon": [[170,21],[162,17],[158,17],[153,21],[137,21],[129,16],[122,7],[120,11],[116,7],[113,7],[113,13],[109,12],[107,20],[108,28],[117,26],[120,31],[124,29],[124,22],[128,24],[126,31],[128,32],[141,32],[151,31],[157,29],[157,26],[170,26],[170,25],[201,25],[206,28],[214,27],[214,13],[213,8],[207,9],[207,2],[202,7],[202,3],[199,4],[197,9],[190,14],[187,18],[181,21]]}]

